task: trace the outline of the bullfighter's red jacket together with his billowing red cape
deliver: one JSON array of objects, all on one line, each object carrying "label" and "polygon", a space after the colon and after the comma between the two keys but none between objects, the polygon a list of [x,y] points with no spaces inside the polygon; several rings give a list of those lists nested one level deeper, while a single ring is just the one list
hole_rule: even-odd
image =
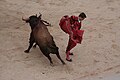
[{"label": "bullfighter's red jacket together with his billowing red cape", "polygon": [[[72,21],[70,21],[72,19]],[[77,16],[63,16],[59,23],[61,29],[71,35],[73,34],[73,39],[77,41],[77,43],[81,43],[84,30],[80,30],[81,22],[79,21]]]}]

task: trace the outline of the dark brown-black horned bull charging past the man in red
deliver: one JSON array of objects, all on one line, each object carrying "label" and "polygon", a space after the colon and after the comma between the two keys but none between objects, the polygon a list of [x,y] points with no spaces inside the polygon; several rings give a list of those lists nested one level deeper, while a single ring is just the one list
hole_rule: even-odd
[{"label": "dark brown-black horned bull charging past the man in red", "polygon": [[49,33],[47,25],[44,24],[45,21],[41,19],[41,15],[39,17],[33,15],[28,19],[23,20],[29,23],[31,27],[29,47],[25,52],[29,53],[33,44],[36,43],[41,52],[49,59],[51,64],[53,64],[53,62],[49,55],[50,53],[56,54],[60,61],[65,64],[59,55],[59,48],[56,46],[52,35]]}]

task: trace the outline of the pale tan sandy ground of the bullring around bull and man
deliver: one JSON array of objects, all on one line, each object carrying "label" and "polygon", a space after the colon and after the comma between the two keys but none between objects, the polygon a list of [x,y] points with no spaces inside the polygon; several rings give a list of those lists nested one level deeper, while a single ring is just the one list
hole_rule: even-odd
[{"label": "pale tan sandy ground of the bullring around bull and man", "polygon": [[[24,53],[30,27],[23,17],[42,13],[66,65],[51,55],[54,67],[39,48]],[[65,60],[68,35],[59,27],[62,16],[87,14],[82,44],[72,63]],[[0,0],[0,80],[102,80],[120,78],[120,0]],[[117,79],[118,79],[117,78]],[[93,79],[91,79],[93,80]]]}]

